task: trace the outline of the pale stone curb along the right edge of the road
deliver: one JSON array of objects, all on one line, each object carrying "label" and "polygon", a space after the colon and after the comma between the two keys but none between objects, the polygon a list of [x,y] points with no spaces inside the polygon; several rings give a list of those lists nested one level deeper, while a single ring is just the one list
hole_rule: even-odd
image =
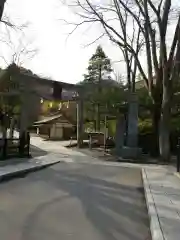
[{"label": "pale stone curb along the right edge of the road", "polygon": [[156,205],[154,203],[153,194],[151,192],[151,187],[148,182],[146,170],[144,168],[142,168],[142,180],[143,180],[146,205],[147,205],[147,210],[149,215],[152,240],[165,240],[162,229],[161,229],[161,225],[159,222]]}]

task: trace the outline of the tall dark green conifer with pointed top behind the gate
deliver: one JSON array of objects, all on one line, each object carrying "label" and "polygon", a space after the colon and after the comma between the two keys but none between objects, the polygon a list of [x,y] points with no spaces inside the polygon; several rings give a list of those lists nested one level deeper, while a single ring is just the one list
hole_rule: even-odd
[{"label": "tall dark green conifer with pointed top behind the gate", "polygon": [[[111,60],[101,46],[89,60],[88,73],[81,82],[85,90],[85,118],[95,121],[96,127],[104,115],[116,116],[124,100],[124,86],[112,79]],[[98,122],[98,123],[97,123]],[[94,127],[94,128],[96,128]],[[96,129],[100,130],[100,129]]]}]

